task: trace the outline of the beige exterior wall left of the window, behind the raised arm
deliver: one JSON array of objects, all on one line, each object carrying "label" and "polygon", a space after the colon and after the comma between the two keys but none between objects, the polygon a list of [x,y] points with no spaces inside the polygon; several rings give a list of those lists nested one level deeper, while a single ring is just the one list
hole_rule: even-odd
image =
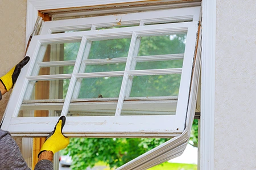
[{"label": "beige exterior wall left of the window, behind the raised arm", "polygon": [[[0,0],[0,76],[23,57],[26,39],[26,0]],[[5,112],[10,91],[0,101],[0,120]]]}]

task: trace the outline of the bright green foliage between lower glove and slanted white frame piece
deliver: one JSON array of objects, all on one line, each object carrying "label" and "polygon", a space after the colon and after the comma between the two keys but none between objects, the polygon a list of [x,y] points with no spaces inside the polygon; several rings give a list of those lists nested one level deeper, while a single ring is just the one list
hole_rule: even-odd
[{"label": "bright green foliage between lower glove and slanted white frame piece", "polygon": [[168,139],[148,138],[71,138],[61,154],[72,156],[72,169],[93,167],[105,162],[110,168],[129,162]]}]

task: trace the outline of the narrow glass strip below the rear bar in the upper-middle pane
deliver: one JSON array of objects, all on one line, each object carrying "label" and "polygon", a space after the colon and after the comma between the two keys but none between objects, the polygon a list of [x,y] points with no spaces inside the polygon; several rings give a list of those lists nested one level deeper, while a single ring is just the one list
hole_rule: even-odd
[{"label": "narrow glass strip below the rear bar in the upper-middle pane", "polygon": [[105,72],[105,71],[123,71],[125,63],[113,63],[107,65],[87,65],[85,73]]}]

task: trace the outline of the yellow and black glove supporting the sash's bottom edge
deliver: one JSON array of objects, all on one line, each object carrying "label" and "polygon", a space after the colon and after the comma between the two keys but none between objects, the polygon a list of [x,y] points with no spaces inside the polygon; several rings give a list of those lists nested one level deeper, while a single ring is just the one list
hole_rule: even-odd
[{"label": "yellow and black glove supporting the sash's bottom edge", "polygon": [[65,121],[66,121],[65,116],[61,116],[59,118],[59,121],[57,122],[54,130],[46,138],[46,141],[44,142],[38,156],[43,151],[52,151],[52,153],[55,154],[56,152],[68,146],[69,138],[65,137],[65,135],[62,133],[62,129],[65,125]]}]

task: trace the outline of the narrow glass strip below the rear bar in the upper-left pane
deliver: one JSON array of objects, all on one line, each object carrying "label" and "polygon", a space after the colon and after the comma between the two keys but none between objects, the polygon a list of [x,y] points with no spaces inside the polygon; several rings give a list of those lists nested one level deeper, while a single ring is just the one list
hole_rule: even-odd
[{"label": "narrow glass strip below the rear bar in the upper-left pane", "polygon": [[72,74],[74,66],[41,67],[38,75]]}]

